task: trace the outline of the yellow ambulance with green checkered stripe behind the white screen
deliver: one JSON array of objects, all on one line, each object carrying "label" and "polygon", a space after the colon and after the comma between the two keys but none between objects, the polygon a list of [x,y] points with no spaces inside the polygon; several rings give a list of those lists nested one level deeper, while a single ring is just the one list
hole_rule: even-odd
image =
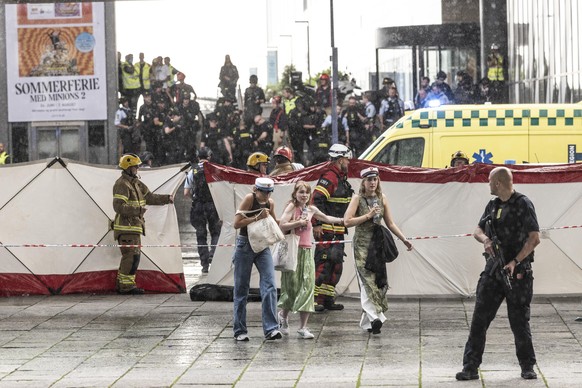
[{"label": "yellow ambulance with green checkered stripe behind the white screen", "polygon": [[360,159],[445,168],[457,151],[463,151],[470,163],[580,162],[582,102],[418,109],[388,128]]}]

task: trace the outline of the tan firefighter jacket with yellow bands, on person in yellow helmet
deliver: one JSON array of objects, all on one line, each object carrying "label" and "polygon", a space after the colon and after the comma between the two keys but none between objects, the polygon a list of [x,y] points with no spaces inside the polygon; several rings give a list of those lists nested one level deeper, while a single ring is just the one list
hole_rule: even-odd
[{"label": "tan firefighter jacket with yellow bands, on person in yellow helmet", "polygon": [[123,171],[113,186],[113,236],[115,240],[122,234],[143,234],[145,236],[145,221],[143,208],[145,205],[165,205],[170,203],[167,194],[154,194],[139,180]]}]

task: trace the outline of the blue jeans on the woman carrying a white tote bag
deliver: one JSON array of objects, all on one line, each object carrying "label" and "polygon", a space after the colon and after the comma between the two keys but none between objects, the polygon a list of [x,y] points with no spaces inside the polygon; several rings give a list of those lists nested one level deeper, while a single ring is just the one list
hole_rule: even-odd
[{"label": "blue jeans on the woman carrying a white tote bag", "polygon": [[253,264],[259,271],[259,292],[261,293],[263,333],[267,336],[279,328],[277,322],[277,286],[271,250],[265,248],[253,252],[246,236],[238,236],[232,258],[234,265],[234,336],[247,334],[247,297],[249,294]]}]

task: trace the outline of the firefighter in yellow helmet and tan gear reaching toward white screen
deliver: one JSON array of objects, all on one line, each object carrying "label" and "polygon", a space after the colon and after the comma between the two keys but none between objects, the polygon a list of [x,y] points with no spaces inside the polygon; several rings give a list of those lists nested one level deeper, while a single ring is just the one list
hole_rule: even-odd
[{"label": "firefighter in yellow helmet and tan gear reaching toward white screen", "polygon": [[[141,160],[136,154],[125,154],[119,159],[123,170],[121,177],[113,186],[114,238],[119,245],[141,245],[141,235],[145,236],[143,218],[146,205],[166,205],[174,203],[174,196],[154,194],[140,181],[137,172]],[[117,292],[120,294],[143,294],[135,282],[141,249],[139,247],[120,247],[121,263],[117,272]]]}]

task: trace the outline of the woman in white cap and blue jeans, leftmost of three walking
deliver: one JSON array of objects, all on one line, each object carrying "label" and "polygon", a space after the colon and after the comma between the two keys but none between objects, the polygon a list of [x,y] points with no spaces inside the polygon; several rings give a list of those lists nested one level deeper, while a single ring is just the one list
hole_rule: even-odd
[{"label": "woman in white cap and blue jeans, leftmost of three walking", "polygon": [[257,178],[253,192],[247,194],[234,216],[234,228],[240,229],[232,262],[234,265],[233,331],[237,341],[248,341],[247,297],[253,264],[259,271],[263,333],[267,340],[282,338],[277,322],[277,286],[271,249],[255,253],[248,239],[247,226],[265,217],[275,217],[275,202],[270,198],[275,182]]}]

